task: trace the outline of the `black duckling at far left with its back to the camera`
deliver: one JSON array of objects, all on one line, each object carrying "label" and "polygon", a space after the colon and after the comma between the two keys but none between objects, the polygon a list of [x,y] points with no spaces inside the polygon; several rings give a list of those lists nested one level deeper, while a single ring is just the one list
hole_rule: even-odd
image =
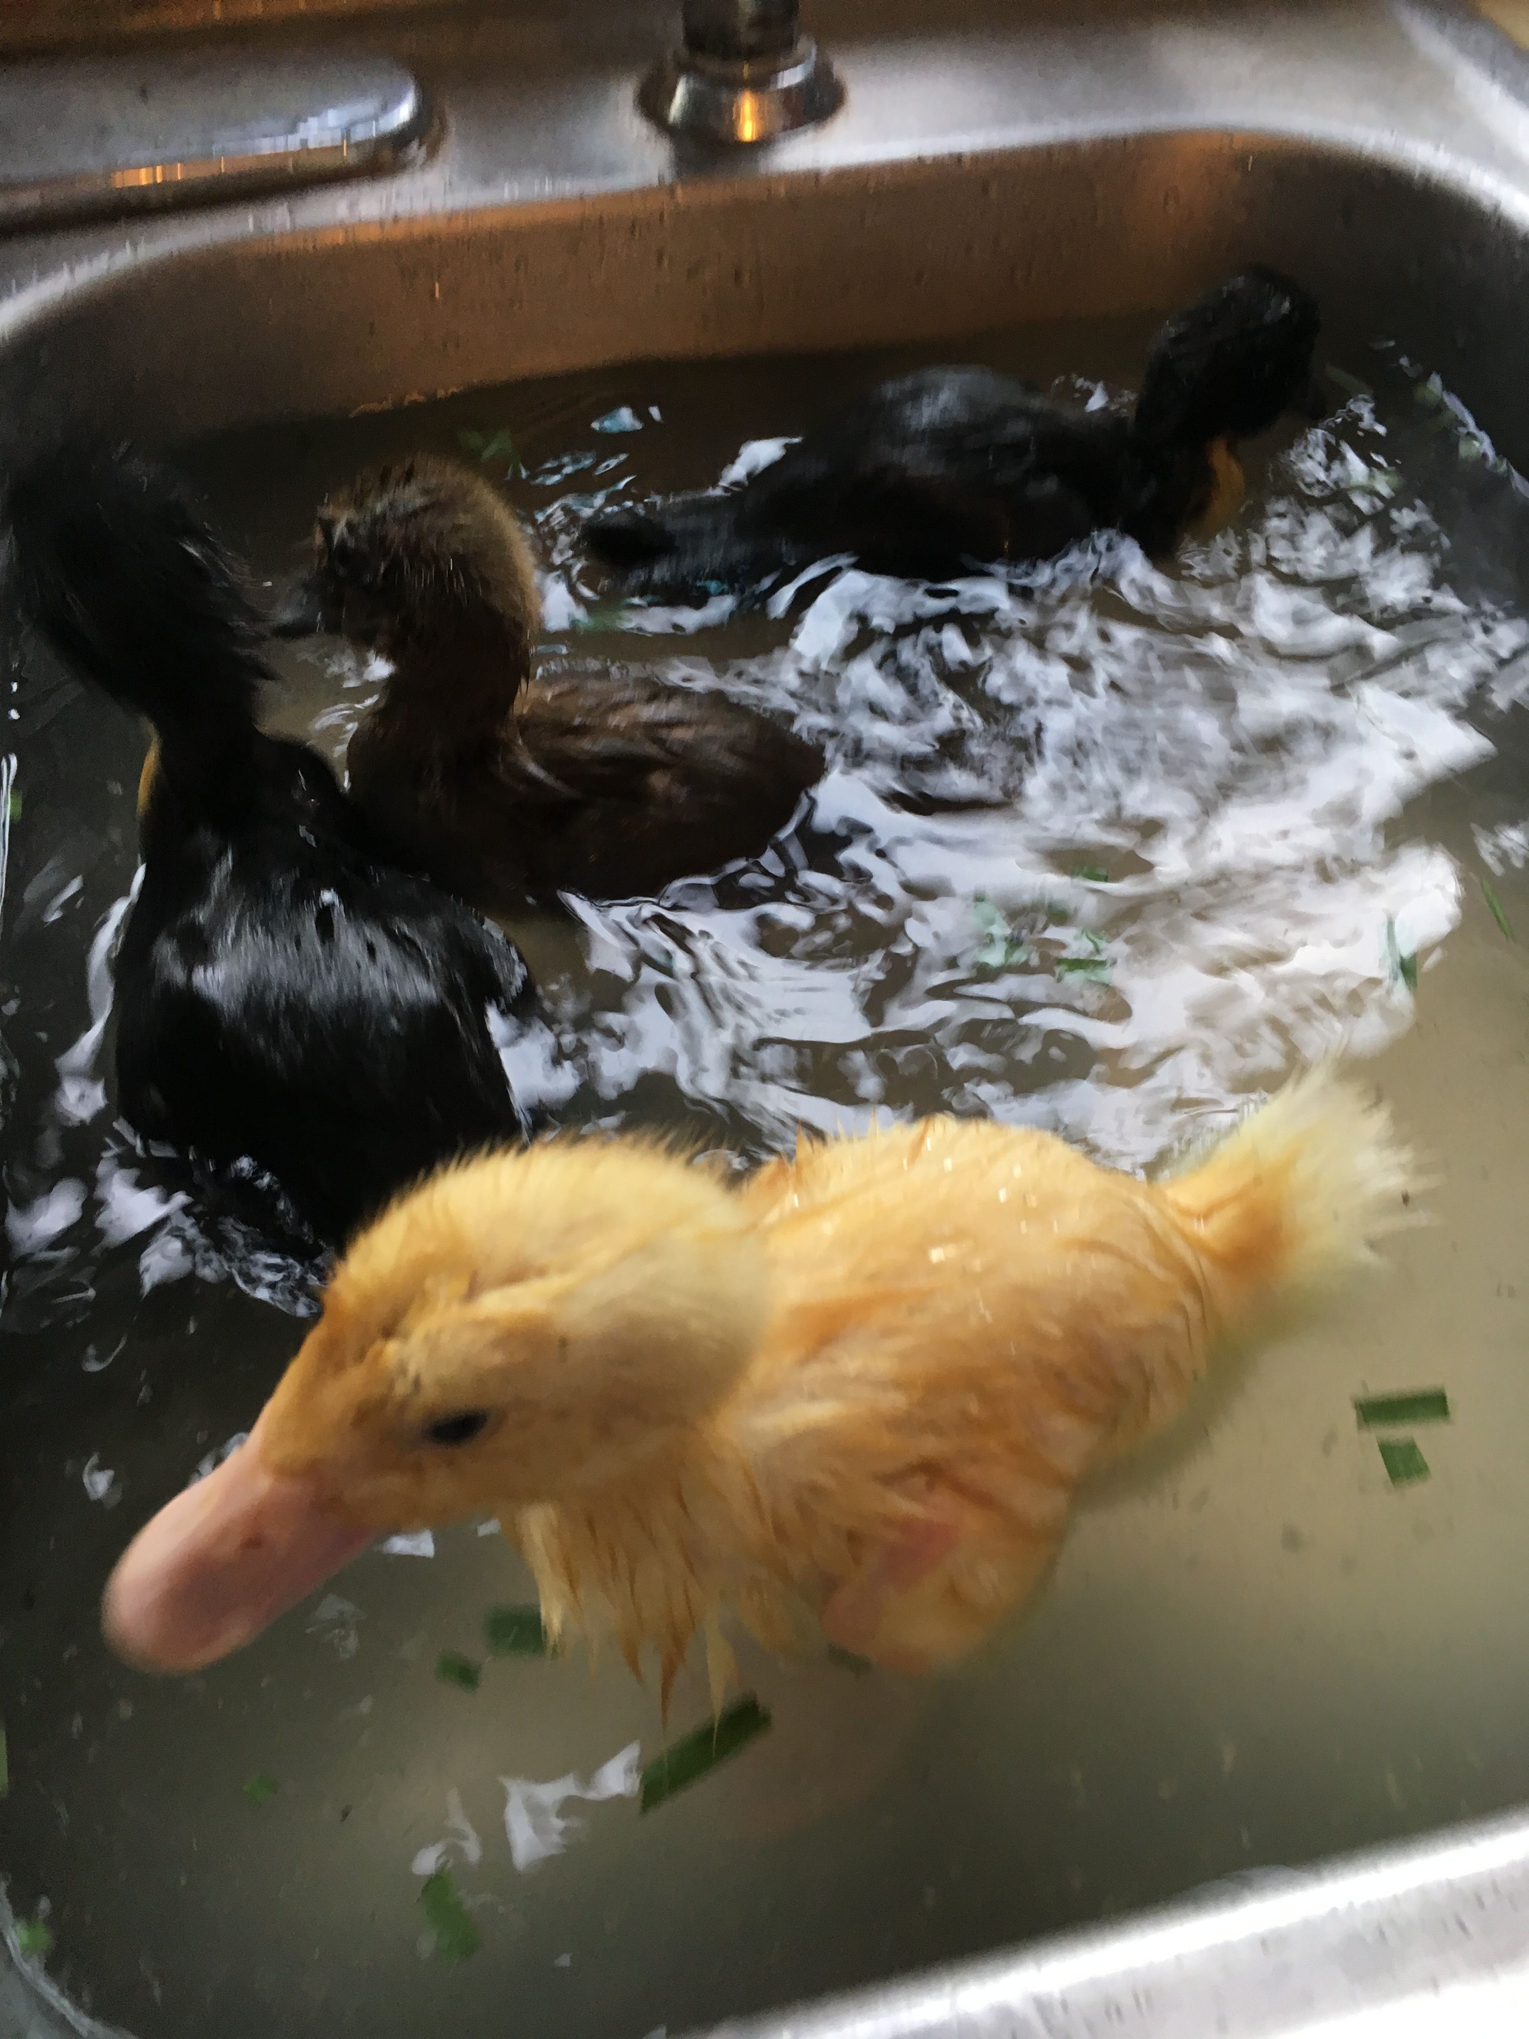
[{"label": "black duckling at far left with its back to the camera", "polygon": [[263,630],[186,487],[130,451],[71,453],[10,520],[29,618],[153,724],[116,964],[137,1132],[253,1158],[328,1244],[438,1162],[524,1138],[489,1020],[526,1011],[524,962],[377,860],[316,750],[261,734]]}]

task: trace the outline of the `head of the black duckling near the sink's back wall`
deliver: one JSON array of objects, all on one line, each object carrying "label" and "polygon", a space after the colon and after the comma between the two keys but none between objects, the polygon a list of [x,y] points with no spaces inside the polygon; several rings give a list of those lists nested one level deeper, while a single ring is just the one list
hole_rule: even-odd
[{"label": "head of the black duckling near the sink's back wall", "polygon": [[1244,269],[1158,332],[1136,438],[1164,451],[1266,432],[1311,387],[1317,302],[1278,269]]}]

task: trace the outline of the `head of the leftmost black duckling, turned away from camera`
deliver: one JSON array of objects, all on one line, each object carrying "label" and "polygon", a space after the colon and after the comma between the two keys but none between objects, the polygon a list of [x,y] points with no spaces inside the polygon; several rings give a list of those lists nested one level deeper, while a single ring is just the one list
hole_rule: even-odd
[{"label": "head of the leftmost black duckling, turned away from camera", "polygon": [[161,730],[253,726],[259,616],[177,475],[128,447],[65,449],[6,510],[20,606],[71,665]]}]

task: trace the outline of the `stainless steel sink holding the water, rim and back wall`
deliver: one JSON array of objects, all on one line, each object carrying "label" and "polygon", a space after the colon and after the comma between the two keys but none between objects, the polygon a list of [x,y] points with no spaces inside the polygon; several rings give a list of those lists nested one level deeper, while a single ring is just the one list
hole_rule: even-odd
[{"label": "stainless steel sink holding the water, rim and back wall", "polygon": [[[1529,63],[1468,10],[822,0],[809,27],[846,104],[769,151],[642,118],[671,37],[650,0],[271,31],[412,71],[432,143],[345,184],[0,239],[4,461],[65,420],[175,440],[626,359],[1162,308],[1264,259],[1333,328],[1437,367],[1529,467]],[[2,94],[24,120],[24,75]],[[0,2031],[100,2031],[69,2019],[0,1974]],[[730,2027],[1498,2029],[1529,2029],[1529,1819]]]}]

